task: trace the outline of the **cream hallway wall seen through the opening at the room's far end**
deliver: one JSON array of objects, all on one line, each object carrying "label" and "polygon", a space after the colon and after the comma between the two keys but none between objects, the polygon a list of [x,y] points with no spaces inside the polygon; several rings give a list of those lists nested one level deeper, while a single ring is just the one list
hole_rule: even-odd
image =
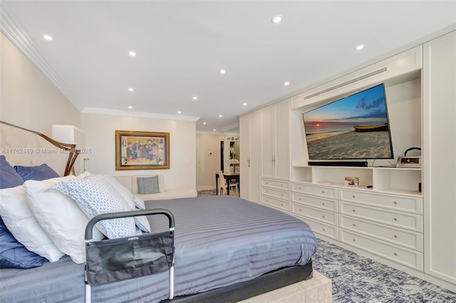
[{"label": "cream hallway wall seen through the opening at the room's far end", "polygon": [[220,170],[220,141],[224,135],[197,134],[197,190],[214,190]]}]

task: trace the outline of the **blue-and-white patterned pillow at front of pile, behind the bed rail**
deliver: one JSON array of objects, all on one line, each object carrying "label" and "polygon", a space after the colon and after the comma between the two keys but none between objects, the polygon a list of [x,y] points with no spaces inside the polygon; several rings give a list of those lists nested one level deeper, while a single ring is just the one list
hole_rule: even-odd
[{"label": "blue-and-white patterned pillow at front of pile, behind the bed rail", "polygon": [[[110,185],[108,180],[99,178],[66,180],[53,185],[49,190],[58,190],[73,198],[89,219],[107,212],[131,210],[122,195],[113,185]],[[97,225],[110,239],[137,235],[133,217],[102,220]]]}]

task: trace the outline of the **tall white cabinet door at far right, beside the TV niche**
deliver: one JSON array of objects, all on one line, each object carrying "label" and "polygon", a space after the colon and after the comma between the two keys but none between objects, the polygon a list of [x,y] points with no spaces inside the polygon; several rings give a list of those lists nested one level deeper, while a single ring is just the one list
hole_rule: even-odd
[{"label": "tall white cabinet door at far right, beside the TV niche", "polygon": [[423,51],[425,273],[456,284],[456,31]]}]

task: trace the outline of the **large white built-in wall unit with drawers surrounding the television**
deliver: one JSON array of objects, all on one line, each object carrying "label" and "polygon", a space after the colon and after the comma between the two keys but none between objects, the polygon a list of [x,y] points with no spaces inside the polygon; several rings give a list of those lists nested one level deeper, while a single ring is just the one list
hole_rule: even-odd
[{"label": "large white built-in wall unit with drawers surrounding the television", "polygon": [[[395,159],[309,166],[302,114],[378,83]],[[455,83],[453,29],[259,109],[261,204],[307,222],[317,237],[456,292]],[[422,149],[422,167],[395,167],[411,147]]]}]

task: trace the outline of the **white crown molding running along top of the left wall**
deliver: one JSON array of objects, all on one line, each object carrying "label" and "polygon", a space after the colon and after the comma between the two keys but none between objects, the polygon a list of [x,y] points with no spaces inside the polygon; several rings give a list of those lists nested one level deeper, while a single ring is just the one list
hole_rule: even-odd
[{"label": "white crown molding running along top of the left wall", "polygon": [[5,5],[1,5],[0,9],[0,31],[11,41],[11,43],[16,46],[21,53],[24,53],[24,56],[28,58],[48,79],[60,90],[68,101],[70,101],[73,106],[78,108],[81,111],[81,108],[78,106],[76,97],[71,92],[70,88],[62,80],[58,73],[54,70],[43,53],[38,49],[33,40],[26,34],[26,31],[22,29],[19,25],[19,22],[14,19],[9,10]]}]

